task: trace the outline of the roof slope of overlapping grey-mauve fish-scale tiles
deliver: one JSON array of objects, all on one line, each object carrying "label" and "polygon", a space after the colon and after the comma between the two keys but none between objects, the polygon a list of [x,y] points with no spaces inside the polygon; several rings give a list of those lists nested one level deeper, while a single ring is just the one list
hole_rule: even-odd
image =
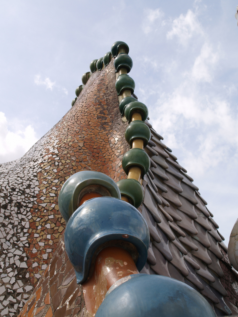
[{"label": "roof slope of overlapping grey-mauve fish-scale tiles", "polygon": [[151,242],[142,272],[169,276],[195,288],[218,316],[228,315],[230,310],[237,314],[237,277],[231,273],[218,225],[193,179],[146,123],[152,133],[145,149],[151,166],[143,180],[140,209]]}]

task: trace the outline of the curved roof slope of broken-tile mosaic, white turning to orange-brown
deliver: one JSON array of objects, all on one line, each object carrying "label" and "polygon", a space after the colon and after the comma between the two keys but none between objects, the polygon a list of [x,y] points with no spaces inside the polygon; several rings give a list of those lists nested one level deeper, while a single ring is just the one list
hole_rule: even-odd
[{"label": "curved roof slope of broken-tile mosaic, white turning to orange-brown", "polygon": [[50,263],[65,223],[57,197],[80,170],[124,177],[113,62],[89,78],[75,105],[21,159],[0,166],[0,314],[15,316]]}]

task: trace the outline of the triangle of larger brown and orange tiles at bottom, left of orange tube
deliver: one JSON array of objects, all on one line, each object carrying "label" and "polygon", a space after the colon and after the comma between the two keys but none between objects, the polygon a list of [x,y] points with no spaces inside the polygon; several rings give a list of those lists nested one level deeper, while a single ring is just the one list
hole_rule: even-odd
[{"label": "triangle of larger brown and orange tiles at bottom, left of orange tube", "polygon": [[76,283],[62,238],[18,317],[83,317],[83,308],[82,287]]}]

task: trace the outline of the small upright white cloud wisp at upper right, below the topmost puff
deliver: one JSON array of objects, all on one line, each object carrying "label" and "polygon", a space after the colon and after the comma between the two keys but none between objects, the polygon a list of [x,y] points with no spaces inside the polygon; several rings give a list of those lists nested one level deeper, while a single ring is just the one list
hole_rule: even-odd
[{"label": "small upright white cloud wisp at upper right, below the topmost puff", "polygon": [[204,43],[200,55],[195,59],[192,76],[197,81],[211,82],[211,70],[219,60],[219,51],[213,52],[212,47],[207,42]]}]

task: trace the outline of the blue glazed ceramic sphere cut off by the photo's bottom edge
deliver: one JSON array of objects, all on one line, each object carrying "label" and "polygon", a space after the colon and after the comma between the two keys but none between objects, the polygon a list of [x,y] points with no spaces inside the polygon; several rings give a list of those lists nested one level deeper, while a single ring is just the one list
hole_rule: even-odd
[{"label": "blue glazed ceramic sphere cut off by the photo's bottom edge", "polygon": [[135,274],[109,293],[95,317],[216,317],[190,286],[166,276]]}]

